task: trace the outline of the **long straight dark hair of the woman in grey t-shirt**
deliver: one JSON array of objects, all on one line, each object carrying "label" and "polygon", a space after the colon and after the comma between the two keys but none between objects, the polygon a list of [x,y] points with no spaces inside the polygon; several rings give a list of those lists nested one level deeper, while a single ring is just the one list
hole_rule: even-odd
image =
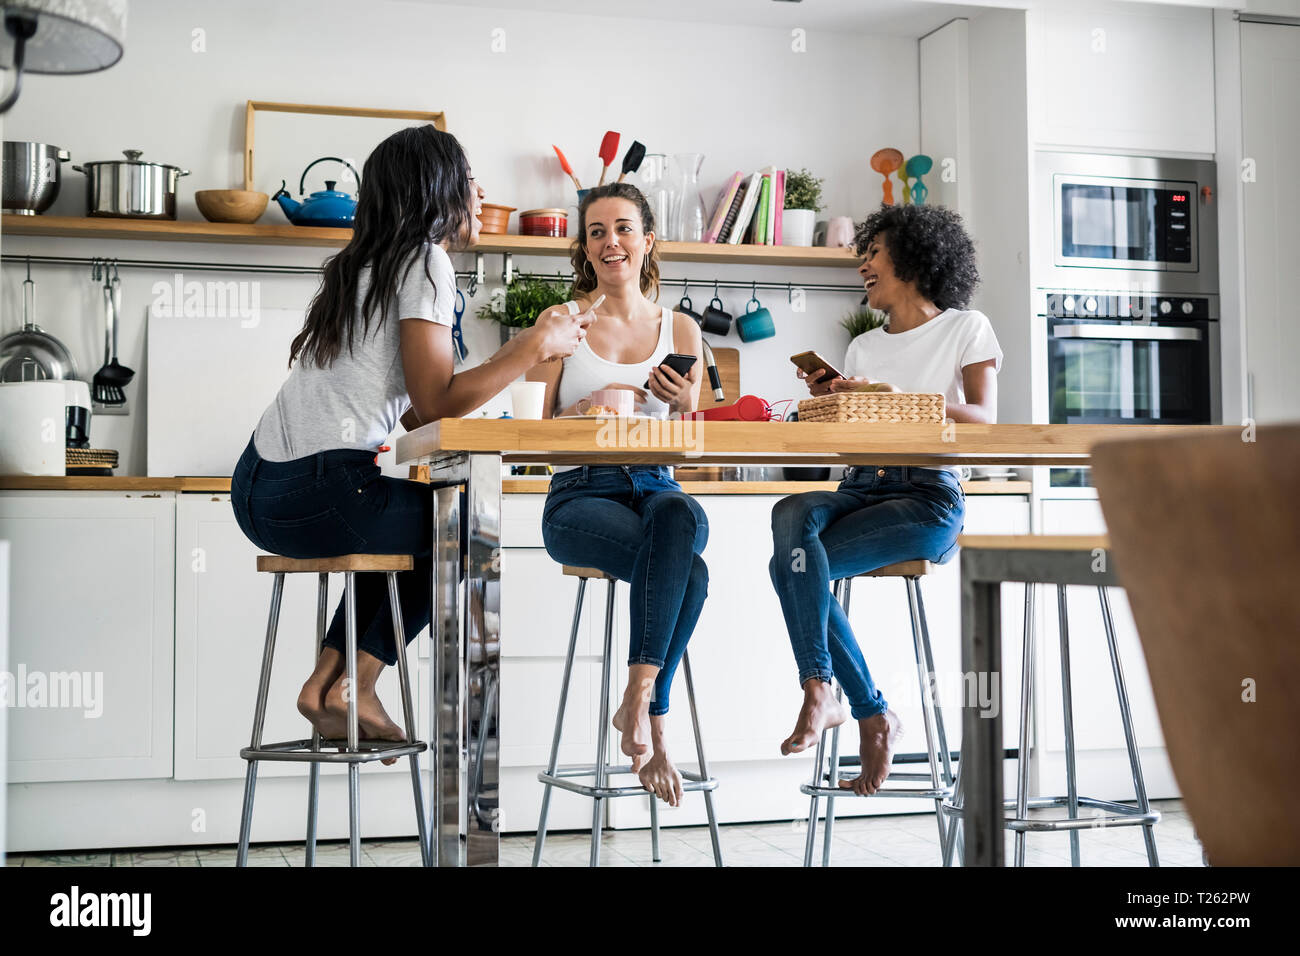
[{"label": "long straight dark hair of the woman in grey t-shirt", "polygon": [[[378,333],[424,243],[455,243],[468,237],[471,190],[469,160],[450,133],[432,125],[411,126],[374,147],[361,168],[352,241],[325,263],[307,321],[290,346],[290,367],[302,358],[328,368],[344,345],[351,354],[358,332],[358,281],[367,265],[370,281],[360,308],[361,341],[370,333],[376,311]],[[432,285],[428,250],[424,274]]]}]

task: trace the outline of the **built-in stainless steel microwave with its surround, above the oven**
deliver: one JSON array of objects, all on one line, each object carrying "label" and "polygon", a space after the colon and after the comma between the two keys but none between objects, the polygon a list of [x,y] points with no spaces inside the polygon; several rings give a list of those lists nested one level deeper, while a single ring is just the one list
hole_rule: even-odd
[{"label": "built-in stainless steel microwave with its surround, above the oven", "polygon": [[1052,242],[1036,286],[1218,291],[1214,163],[1040,152],[1036,177]]}]

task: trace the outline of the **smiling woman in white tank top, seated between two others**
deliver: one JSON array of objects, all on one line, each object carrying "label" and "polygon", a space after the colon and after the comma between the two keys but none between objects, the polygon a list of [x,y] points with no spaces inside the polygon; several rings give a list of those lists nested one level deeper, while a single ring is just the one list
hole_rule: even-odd
[{"label": "smiling woman in white tank top, seated between two others", "polygon": [[[599,389],[632,390],[640,414],[694,411],[699,328],[649,298],[659,291],[654,228],[645,196],[628,183],[598,186],[578,208],[575,300],[554,311],[599,304],[573,355],[528,373],[529,381],[546,382],[546,418],[580,414],[582,399]],[[659,364],[673,351],[697,356],[686,376]],[[681,774],[668,757],[664,722],[673,674],[708,591],[699,557],[708,540],[703,510],[666,467],[577,466],[551,480],[542,540],[564,564],[597,567],[632,584],[628,685],[614,726],[642,786],[679,805]]]}]

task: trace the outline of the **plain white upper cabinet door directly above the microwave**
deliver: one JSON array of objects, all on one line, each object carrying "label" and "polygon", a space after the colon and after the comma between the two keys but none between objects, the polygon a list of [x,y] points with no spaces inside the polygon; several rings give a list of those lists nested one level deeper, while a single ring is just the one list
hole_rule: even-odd
[{"label": "plain white upper cabinet door directly above the microwave", "polygon": [[1031,140],[1214,152],[1212,10],[1071,4],[1026,17]]}]

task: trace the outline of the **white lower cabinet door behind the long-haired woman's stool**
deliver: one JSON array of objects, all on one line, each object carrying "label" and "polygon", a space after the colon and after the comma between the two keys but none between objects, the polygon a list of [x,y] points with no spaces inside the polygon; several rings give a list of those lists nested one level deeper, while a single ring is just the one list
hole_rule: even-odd
[{"label": "white lower cabinet door behind the long-haired woman's stool", "polygon": [[[176,778],[178,780],[243,777],[239,748],[252,731],[257,678],[273,575],[259,574],[257,549],[235,524],[229,494],[182,494],[176,531]],[[330,575],[328,618],[343,593],[343,576]],[[276,662],[263,740],[298,740],[311,727],[298,713],[298,691],[315,662],[316,575],[286,575],[281,598]],[[420,671],[428,662],[416,654],[426,648],[428,632],[407,649],[416,732],[428,727],[428,702],[419,693]],[[426,653],[426,650],[425,650]],[[398,724],[402,697],[396,669],[380,678],[380,698]],[[367,773],[407,773],[406,761],[393,767],[368,765]],[[325,765],[324,773],[343,766]],[[264,762],[259,775],[306,775],[306,763]]]}]

